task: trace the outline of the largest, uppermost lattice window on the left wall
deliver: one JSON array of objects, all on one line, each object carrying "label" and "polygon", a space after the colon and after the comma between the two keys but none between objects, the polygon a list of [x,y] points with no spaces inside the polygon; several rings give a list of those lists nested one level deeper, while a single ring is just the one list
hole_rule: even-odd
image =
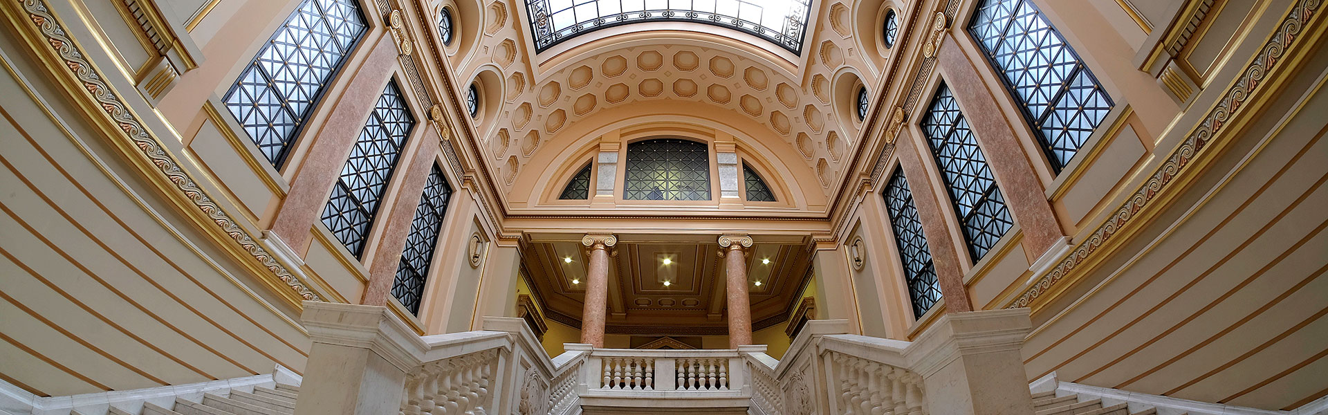
[{"label": "largest, uppermost lattice window on the left wall", "polygon": [[226,109],[274,166],[365,28],[356,0],[304,0],[226,92]]}]

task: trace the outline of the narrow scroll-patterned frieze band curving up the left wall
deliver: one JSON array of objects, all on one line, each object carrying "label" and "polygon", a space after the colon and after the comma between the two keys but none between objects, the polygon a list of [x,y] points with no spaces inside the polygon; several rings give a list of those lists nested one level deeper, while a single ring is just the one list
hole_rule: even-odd
[{"label": "narrow scroll-patterned frieze band curving up the left wall", "polygon": [[64,67],[73,72],[78,82],[82,84],[84,89],[92,94],[92,98],[97,101],[97,106],[110,116],[112,121],[125,132],[125,136],[133,141],[133,145],[138,148],[147,162],[157,166],[157,169],[166,176],[175,189],[179,190],[186,198],[189,198],[194,206],[197,206],[203,214],[206,214],[212,223],[220,227],[232,242],[239,245],[246,253],[248,253],[254,259],[256,259],[262,266],[267,267],[276,278],[287,285],[296,295],[309,301],[323,301],[317,294],[311,291],[308,286],[300,281],[297,277],[291,274],[282,263],[276,262],[267,250],[259,246],[252,237],[244,229],[239,227],[226,211],[222,210],[205,193],[198,184],[194,182],[179,164],[175,162],[166,152],[162,149],[161,142],[157,137],[147,133],[142,122],[134,118],[133,113],[129,112],[127,106],[112,92],[112,88],[102,81],[102,77],[93,68],[81,51],[77,49],[74,43],[69,39],[61,23],[50,13],[46,8],[45,0],[19,0],[23,9],[28,13],[28,19],[37,27],[42,37],[45,37],[46,44],[56,52],[57,57],[62,61]]}]

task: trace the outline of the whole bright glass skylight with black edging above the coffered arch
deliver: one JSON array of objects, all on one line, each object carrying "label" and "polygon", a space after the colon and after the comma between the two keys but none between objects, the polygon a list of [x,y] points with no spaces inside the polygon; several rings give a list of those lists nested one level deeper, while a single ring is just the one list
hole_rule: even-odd
[{"label": "whole bright glass skylight with black edging above the coffered arch", "polygon": [[801,55],[811,0],[526,0],[535,51],[578,35],[644,21],[692,21],[742,31]]}]

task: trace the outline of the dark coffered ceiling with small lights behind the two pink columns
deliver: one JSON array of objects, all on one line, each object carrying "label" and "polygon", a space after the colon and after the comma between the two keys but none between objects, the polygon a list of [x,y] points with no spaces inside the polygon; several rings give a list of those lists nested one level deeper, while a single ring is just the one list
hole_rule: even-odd
[{"label": "dark coffered ceiling with small lights behind the two pink columns", "polygon": [[[620,239],[610,258],[610,334],[728,333],[726,270],[716,242],[620,238],[627,241]],[[788,318],[811,263],[809,242],[798,238],[758,242],[746,255],[753,329]],[[587,257],[580,242],[552,237],[531,241],[522,251],[525,275],[546,315],[579,327],[587,285]]]}]

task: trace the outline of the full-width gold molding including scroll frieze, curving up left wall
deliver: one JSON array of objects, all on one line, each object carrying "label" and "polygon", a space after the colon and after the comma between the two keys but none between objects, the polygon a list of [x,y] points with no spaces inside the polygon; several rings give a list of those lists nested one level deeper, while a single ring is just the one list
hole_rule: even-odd
[{"label": "full-width gold molding including scroll frieze, curving up left wall", "polygon": [[[11,23],[20,28],[20,37],[36,52],[39,61],[54,74],[53,81],[69,94],[80,110],[89,116],[92,126],[101,129],[112,146],[142,172],[143,177],[186,218],[211,235],[219,247],[235,255],[242,266],[260,275],[256,279],[272,289],[288,306],[301,310],[301,301],[323,301],[181,169],[179,162],[165,150],[158,137],[151,134],[137,113],[121,101],[122,94],[104,81],[101,70],[88,61],[82,47],[69,37],[61,20],[49,11],[45,0],[8,3],[3,11]],[[242,259],[246,257],[247,259]]]}]

